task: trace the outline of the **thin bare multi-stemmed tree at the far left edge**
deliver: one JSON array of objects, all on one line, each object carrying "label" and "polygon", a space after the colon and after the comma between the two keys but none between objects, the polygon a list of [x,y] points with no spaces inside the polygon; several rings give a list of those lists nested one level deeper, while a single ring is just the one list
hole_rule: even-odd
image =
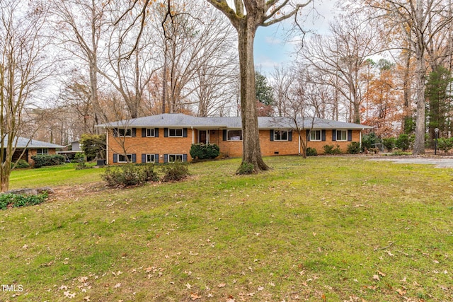
[{"label": "thin bare multi-stemmed tree at the far left edge", "polygon": [[46,18],[47,11],[39,3],[20,0],[0,3],[1,192],[8,190],[25,106],[50,76],[52,62],[46,57],[50,42],[43,35]]}]

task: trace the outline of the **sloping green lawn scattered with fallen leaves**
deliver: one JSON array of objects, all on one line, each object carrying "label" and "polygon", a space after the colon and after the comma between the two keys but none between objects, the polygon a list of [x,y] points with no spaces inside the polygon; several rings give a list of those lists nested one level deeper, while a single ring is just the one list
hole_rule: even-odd
[{"label": "sloping green lawn scattered with fallen leaves", "polygon": [[[184,182],[0,211],[0,284],[24,289],[0,301],[453,300],[452,169],[265,161],[260,175],[234,175],[239,160],[197,163]],[[44,171],[16,171],[11,187],[101,173]]]}]

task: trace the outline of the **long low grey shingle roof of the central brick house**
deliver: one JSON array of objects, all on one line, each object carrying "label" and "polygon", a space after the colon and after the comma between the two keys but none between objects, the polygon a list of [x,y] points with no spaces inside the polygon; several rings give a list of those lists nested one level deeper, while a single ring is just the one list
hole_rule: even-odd
[{"label": "long low grey shingle roof of the central brick house", "polygon": [[[338,122],[313,117],[297,117],[297,126],[300,129],[370,129],[372,127],[362,124]],[[194,127],[194,128],[230,128],[240,129],[242,126],[241,117],[194,117],[182,113],[165,113],[162,115],[150,115],[138,117],[132,120],[122,120],[98,124],[96,127]],[[294,119],[290,117],[258,117],[260,129],[296,129]]]}]

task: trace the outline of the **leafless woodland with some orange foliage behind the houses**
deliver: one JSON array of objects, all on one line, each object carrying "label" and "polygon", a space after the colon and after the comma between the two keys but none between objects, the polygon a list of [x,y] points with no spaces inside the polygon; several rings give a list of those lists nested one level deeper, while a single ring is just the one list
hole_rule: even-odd
[{"label": "leafless woodland with some orange foliage behind the houses", "polygon": [[[316,16],[305,9],[289,33],[304,36],[289,37],[294,61],[256,73],[259,115],[367,124],[383,139],[417,128],[427,141],[435,128],[450,137],[452,9],[343,2],[323,33],[303,30]],[[20,117],[18,136],[64,145],[113,120],[240,114],[236,31],[207,1],[6,0],[0,22],[2,107]]]}]

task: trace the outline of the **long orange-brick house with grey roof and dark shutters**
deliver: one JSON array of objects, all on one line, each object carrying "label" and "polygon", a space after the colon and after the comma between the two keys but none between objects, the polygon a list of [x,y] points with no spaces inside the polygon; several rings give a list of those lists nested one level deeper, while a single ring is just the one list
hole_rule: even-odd
[{"label": "long orange-brick house with grey roof and dark shutters", "polygon": [[[298,127],[288,117],[258,117],[263,156],[302,153],[299,139],[308,139],[308,147],[315,148],[320,154],[326,144],[338,144],[342,151],[346,151],[352,141],[361,142],[363,129],[372,128],[311,117],[299,117],[297,124]],[[107,130],[108,164],[191,161],[190,146],[197,143],[217,144],[224,156],[242,156],[241,117],[193,117],[166,113],[96,127]]]}]

